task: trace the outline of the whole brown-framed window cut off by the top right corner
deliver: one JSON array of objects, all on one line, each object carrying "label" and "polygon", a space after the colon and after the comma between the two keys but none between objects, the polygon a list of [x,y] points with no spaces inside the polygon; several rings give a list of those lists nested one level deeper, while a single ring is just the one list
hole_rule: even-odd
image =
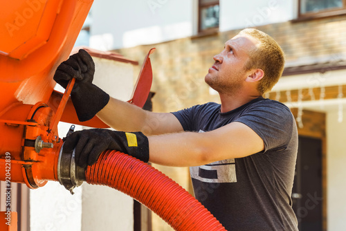
[{"label": "whole brown-framed window cut off by the top right corner", "polygon": [[299,19],[346,14],[346,0],[299,0]]}]

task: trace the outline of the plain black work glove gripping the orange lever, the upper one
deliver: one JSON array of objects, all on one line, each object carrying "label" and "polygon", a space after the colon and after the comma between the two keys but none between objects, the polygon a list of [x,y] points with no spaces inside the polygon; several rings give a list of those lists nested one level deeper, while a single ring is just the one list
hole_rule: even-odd
[{"label": "plain black work glove gripping the orange lever, the upper one", "polygon": [[92,84],[94,73],[93,59],[89,53],[81,49],[62,62],[53,77],[64,89],[69,81],[75,78],[71,100],[81,122],[93,118],[109,102],[109,95]]}]

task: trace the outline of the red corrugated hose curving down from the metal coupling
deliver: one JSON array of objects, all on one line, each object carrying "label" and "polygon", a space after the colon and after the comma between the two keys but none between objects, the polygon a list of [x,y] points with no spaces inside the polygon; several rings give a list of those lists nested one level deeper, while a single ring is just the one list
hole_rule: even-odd
[{"label": "red corrugated hose curving down from the metal coupling", "polygon": [[86,182],[107,185],[147,206],[180,231],[226,230],[191,194],[142,161],[107,150],[86,169]]}]

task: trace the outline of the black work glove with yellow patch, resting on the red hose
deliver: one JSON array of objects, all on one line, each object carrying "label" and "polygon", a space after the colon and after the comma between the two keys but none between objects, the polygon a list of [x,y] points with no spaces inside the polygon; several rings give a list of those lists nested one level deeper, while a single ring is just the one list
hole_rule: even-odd
[{"label": "black work glove with yellow patch, resting on the red hose", "polygon": [[93,165],[106,149],[121,151],[139,160],[148,162],[149,142],[147,136],[138,132],[89,129],[75,131],[65,138],[64,152],[75,148],[75,163],[80,167]]}]

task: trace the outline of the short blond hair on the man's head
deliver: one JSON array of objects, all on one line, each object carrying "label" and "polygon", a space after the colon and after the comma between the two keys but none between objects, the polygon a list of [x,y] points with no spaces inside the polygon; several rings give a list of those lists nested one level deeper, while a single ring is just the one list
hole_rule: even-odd
[{"label": "short blond hair on the man's head", "polygon": [[245,68],[246,71],[253,68],[264,71],[264,77],[257,86],[257,90],[263,95],[273,88],[284,71],[284,52],[272,37],[260,30],[246,28],[239,35],[249,35],[260,42],[257,49],[250,51],[250,59]]}]

